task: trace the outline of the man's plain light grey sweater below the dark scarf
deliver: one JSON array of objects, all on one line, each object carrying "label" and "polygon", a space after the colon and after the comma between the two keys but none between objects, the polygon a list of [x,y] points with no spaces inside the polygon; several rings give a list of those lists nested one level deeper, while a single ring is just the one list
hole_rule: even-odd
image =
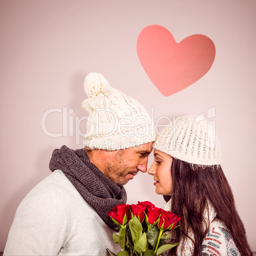
[{"label": "man's plain light grey sweater below the dark scarf", "polygon": [[107,255],[120,251],[111,229],[60,170],[18,206],[4,255]]}]

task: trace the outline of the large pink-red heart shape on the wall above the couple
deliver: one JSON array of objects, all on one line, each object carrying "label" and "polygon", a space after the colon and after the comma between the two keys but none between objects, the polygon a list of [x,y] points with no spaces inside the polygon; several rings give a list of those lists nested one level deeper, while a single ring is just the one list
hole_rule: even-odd
[{"label": "large pink-red heart shape on the wall above the couple", "polygon": [[176,43],[165,27],[149,25],[139,33],[137,53],[155,87],[163,96],[170,96],[209,71],[215,59],[215,45],[203,34]]}]

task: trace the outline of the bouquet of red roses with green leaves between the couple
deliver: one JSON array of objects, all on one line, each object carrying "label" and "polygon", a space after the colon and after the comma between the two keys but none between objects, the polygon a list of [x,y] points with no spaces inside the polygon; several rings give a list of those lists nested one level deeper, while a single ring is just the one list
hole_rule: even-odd
[{"label": "bouquet of red roses with green leaves between the couple", "polygon": [[113,233],[113,241],[121,246],[122,251],[115,255],[107,249],[112,256],[160,255],[178,245],[166,244],[171,236],[166,232],[178,227],[181,218],[148,201],[132,205],[118,204],[108,211],[108,215],[115,224],[120,225],[118,235]]}]

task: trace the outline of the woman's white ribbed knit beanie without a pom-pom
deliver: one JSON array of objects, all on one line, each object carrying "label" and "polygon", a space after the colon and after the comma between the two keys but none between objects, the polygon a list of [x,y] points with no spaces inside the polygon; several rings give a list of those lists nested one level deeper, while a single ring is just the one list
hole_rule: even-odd
[{"label": "woman's white ribbed knit beanie without a pom-pom", "polygon": [[220,164],[220,143],[202,115],[184,116],[166,125],[157,135],[153,148],[191,164]]}]

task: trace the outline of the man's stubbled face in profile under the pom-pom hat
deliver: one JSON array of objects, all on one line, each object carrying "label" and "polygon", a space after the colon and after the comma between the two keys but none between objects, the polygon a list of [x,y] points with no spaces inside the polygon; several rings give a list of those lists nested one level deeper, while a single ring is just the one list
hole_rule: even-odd
[{"label": "man's stubbled face in profile under the pom-pom hat", "polygon": [[151,152],[152,142],[113,151],[106,157],[101,171],[118,185],[125,185],[139,171],[146,173]]}]

